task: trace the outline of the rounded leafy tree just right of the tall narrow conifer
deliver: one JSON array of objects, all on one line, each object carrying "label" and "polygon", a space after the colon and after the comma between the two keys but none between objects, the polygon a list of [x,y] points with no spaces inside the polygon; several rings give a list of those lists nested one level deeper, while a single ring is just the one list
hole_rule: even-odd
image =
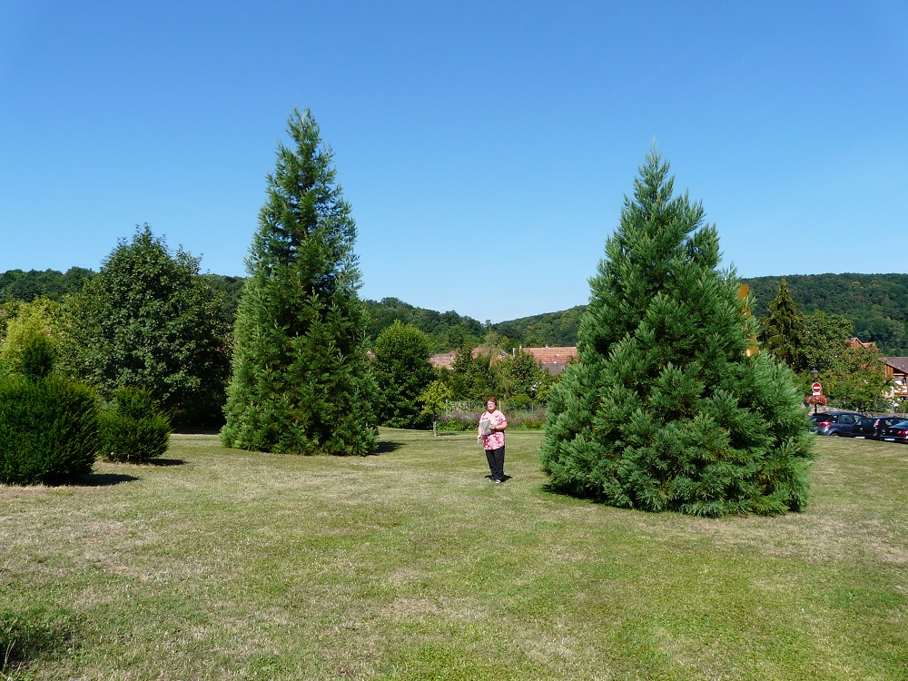
[{"label": "rounded leafy tree just right of the tall narrow conifer", "polygon": [[429,364],[429,337],[415,326],[394,321],[379,334],[374,352],[380,423],[391,428],[425,425],[419,396],[435,380]]}]

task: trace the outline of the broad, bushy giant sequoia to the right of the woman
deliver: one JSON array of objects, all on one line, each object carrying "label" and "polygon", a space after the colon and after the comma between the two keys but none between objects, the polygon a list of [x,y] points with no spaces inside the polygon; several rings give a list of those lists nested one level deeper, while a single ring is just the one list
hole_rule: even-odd
[{"label": "broad, bushy giant sequoia to the right of the woman", "polygon": [[706,516],[802,508],[814,458],[802,396],[754,332],[716,228],[647,155],[590,280],[579,363],[548,406],[555,489]]}]

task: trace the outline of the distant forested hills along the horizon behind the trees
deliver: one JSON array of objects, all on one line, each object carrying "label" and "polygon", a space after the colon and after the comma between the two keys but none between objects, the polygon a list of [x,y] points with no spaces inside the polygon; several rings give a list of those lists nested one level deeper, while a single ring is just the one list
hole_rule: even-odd
[{"label": "distant forested hills along the horizon behind the trees", "polygon": [[[94,271],[81,267],[55,270],[10,270],[0,273],[0,302],[31,301],[38,295],[57,300],[81,289]],[[242,277],[203,274],[222,294],[224,316],[232,319],[242,291]],[[873,341],[887,354],[908,355],[908,274],[792,274],[785,277],[788,291],[802,314],[817,310],[841,314],[854,323],[854,335]],[[742,280],[755,298],[754,314],[763,318],[775,297],[781,277]],[[369,335],[374,341],[395,320],[410,323],[429,335],[433,351],[452,350],[464,343],[479,343],[489,333],[502,347],[565,346],[577,344],[577,330],[585,305],[544,312],[532,317],[501,321],[487,327],[456,311],[418,308],[397,298],[366,301]]]}]

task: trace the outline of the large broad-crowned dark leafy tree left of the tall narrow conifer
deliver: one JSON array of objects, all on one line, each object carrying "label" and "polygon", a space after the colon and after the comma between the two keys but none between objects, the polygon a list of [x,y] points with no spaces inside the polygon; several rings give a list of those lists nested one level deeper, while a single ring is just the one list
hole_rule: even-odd
[{"label": "large broad-crowned dark leafy tree left of the tall narrow conifer", "polygon": [[226,329],[199,259],[136,227],[68,299],[61,363],[104,398],[147,388],[174,422],[216,422],[229,368]]}]

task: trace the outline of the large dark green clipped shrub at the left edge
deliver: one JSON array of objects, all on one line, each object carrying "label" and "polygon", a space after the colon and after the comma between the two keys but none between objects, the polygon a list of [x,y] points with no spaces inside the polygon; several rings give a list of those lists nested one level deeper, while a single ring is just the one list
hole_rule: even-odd
[{"label": "large dark green clipped shrub at the left edge", "polygon": [[56,378],[0,377],[0,482],[66,482],[90,472],[97,452],[90,389]]}]

